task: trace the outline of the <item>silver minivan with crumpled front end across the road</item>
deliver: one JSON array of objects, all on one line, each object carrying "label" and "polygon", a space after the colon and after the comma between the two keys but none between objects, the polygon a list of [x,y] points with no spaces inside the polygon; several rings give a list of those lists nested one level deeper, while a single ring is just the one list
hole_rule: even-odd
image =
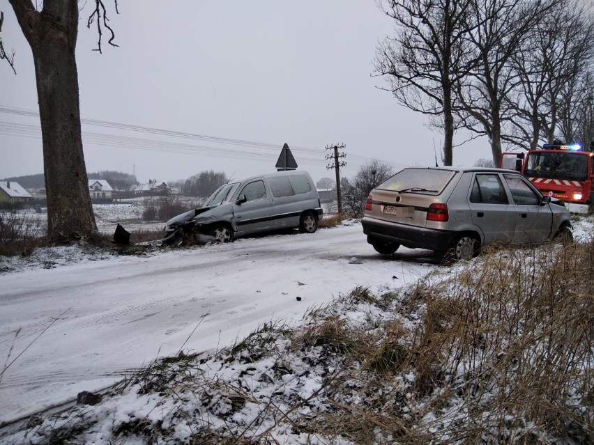
[{"label": "silver minivan with crumpled front end across the road", "polygon": [[165,244],[183,233],[231,242],[236,237],[282,228],[314,233],[323,214],[314,182],[305,171],[277,171],[219,187],[201,208],[167,221]]}]

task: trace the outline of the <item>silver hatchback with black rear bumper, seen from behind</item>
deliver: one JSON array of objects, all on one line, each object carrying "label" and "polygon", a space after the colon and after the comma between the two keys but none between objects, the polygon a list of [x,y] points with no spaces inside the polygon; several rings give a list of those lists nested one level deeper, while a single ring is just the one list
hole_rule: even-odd
[{"label": "silver hatchback with black rear bumper, seen from behind", "polygon": [[404,169],[372,190],[361,223],[383,254],[404,246],[469,259],[489,244],[572,239],[563,203],[503,169]]}]

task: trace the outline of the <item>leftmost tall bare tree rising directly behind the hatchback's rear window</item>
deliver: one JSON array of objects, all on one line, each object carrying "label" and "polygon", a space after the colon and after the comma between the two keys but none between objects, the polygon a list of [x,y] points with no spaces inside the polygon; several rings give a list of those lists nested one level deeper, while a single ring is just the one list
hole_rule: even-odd
[{"label": "leftmost tall bare tree rising directly behind the hatchback's rear window", "polygon": [[394,97],[405,107],[431,117],[443,130],[443,164],[452,165],[454,119],[453,84],[465,77],[469,60],[469,20],[472,0],[380,0],[394,19],[396,35],[376,50],[374,67],[386,77]]}]

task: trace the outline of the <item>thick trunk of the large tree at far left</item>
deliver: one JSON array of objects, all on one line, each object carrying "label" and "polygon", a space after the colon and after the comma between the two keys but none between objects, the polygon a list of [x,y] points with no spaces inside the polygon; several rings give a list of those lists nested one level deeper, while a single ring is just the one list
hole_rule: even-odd
[{"label": "thick trunk of the large tree at far left", "polygon": [[97,231],[82,150],[75,58],[76,0],[46,1],[38,13],[31,1],[10,0],[35,62],[47,237],[67,242]]}]

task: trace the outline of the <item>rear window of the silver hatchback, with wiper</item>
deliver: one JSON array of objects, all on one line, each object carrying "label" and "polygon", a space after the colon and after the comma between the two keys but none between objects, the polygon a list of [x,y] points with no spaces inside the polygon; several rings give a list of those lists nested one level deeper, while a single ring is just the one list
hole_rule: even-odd
[{"label": "rear window of the silver hatchback, with wiper", "polygon": [[452,170],[404,169],[376,188],[437,195],[448,185],[455,173]]}]

